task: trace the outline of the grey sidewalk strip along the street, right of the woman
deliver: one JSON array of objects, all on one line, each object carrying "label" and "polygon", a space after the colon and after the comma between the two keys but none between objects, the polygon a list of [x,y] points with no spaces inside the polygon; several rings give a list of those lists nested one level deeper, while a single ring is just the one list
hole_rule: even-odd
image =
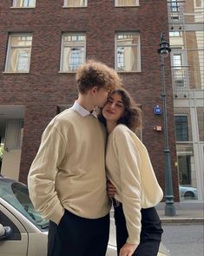
[{"label": "grey sidewalk strip along the street, right of the woman", "polygon": [[162,223],[198,223],[204,224],[203,203],[180,202],[174,203],[175,216],[165,216],[165,203],[156,206]]}]

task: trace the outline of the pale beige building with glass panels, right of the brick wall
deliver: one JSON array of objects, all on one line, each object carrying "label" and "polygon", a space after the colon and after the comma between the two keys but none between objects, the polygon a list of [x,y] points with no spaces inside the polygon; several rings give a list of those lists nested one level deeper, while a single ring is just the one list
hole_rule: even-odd
[{"label": "pale beige building with glass panels, right of the brick wall", "polygon": [[181,201],[203,201],[204,2],[168,1]]}]

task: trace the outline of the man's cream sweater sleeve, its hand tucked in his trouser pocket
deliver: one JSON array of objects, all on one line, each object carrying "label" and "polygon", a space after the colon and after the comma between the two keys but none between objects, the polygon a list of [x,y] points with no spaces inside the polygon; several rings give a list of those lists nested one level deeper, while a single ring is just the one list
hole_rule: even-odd
[{"label": "man's cream sweater sleeve, its hand tucked in his trouser pocket", "polygon": [[63,205],[55,190],[56,172],[63,161],[65,141],[56,127],[49,125],[43,132],[41,145],[28,176],[30,199],[43,218],[56,224],[63,217]]}]

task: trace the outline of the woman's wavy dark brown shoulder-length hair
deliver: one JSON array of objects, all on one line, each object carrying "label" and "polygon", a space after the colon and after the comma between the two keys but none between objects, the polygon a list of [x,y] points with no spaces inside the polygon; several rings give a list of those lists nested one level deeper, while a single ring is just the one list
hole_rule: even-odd
[{"label": "woman's wavy dark brown shoulder-length hair", "polygon": [[[135,101],[129,95],[128,91],[124,88],[118,88],[111,92],[113,94],[119,94],[122,97],[122,103],[125,106],[125,112],[122,118],[118,120],[118,124],[127,125],[131,131],[141,129],[142,124],[142,112],[141,108],[135,104]],[[102,110],[98,114],[98,119],[103,125],[106,125],[106,119],[102,116]]]}]

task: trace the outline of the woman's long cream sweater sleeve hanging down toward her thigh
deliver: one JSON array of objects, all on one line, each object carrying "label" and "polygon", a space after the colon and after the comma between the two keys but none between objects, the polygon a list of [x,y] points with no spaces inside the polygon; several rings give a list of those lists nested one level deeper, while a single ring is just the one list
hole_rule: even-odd
[{"label": "woman's long cream sweater sleeve hanging down toward her thigh", "polygon": [[127,242],[138,245],[141,233],[140,156],[128,131],[117,130],[115,147],[121,173],[122,208],[128,230]]}]

